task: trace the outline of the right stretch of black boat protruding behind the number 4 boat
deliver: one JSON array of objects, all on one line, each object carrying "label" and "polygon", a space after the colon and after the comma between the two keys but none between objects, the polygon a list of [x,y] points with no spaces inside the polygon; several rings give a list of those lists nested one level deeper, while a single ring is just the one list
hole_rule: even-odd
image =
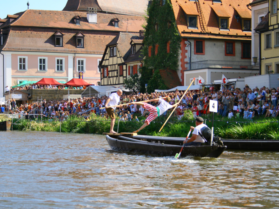
[{"label": "right stretch of black boat protruding behind the number 4 boat", "polygon": [[227,149],[251,151],[279,151],[279,140],[223,139]]}]

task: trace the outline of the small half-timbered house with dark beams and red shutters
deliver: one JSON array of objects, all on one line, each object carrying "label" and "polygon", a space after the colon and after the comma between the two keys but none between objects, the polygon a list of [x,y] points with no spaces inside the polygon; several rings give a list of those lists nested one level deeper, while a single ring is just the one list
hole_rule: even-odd
[{"label": "small half-timbered house with dark beams and red shutters", "polygon": [[143,41],[140,33],[120,32],[105,48],[101,69],[101,85],[122,87],[130,75],[139,73],[142,66],[140,49]]}]

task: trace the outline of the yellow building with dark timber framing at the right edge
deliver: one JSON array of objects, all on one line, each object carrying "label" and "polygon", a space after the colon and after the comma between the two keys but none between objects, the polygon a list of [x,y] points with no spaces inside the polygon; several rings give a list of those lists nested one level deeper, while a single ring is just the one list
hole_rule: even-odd
[{"label": "yellow building with dark timber framing at the right edge", "polygon": [[269,12],[255,28],[260,34],[261,74],[279,73],[279,10],[278,0],[269,0]]}]

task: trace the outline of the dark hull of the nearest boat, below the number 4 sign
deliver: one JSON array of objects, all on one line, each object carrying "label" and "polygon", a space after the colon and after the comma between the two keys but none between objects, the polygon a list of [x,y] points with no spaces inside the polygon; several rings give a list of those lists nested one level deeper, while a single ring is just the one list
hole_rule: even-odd
[{"label": "dark hull of the nearest boat, below the number 4 sign", "polygon": [[[121,152],[133,152],[140,154],[155,154],[160,156],[175,156],[180,152],[182,145],[171,145],[165,143],[152,143],[146,141],[129,141],[128,137],[119,136],[112,138],[106,135],[106,139],[111,149]],[[183,142],[183,141],[182,141]],[[181,143],[181,140],[180,140]],[[181,152],[181,157],[218,157],[226,147],[223,146],[185,146]]]}]

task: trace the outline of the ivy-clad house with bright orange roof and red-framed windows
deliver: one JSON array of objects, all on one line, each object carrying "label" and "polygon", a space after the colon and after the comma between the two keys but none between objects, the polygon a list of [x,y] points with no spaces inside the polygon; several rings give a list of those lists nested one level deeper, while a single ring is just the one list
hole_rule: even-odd
[{"label": "ivy-clad house with bright orange roof and red-framed windows", "polygon": [[[251,62],[251,10],[247,8],[249,3],[250,0],[153,0],[155,6],[149,9],[155,12],[149,12],[151,15],[148,24],[153,25],[155,30],[153,34],[146,36],[144,43],[149,42],[149,38],[154,40],[154,43],[150,43],[149,54],[145,51],[145,57],[151,57],[147,58],[150,60],[145,60],[145,63],[155,63],[161,50],[166,51],[176,44],[162,36],[164,31],[160,31],[160,28],[169,30],[165,26],[173,17],[175,24],[171,22],[171,25],[174,24],[177,28],[181,41],[178,67],[171,70],[177,71],[183,85],[189,85],[193,78],[198,78],[199,75],[206,83],[212,83],[219,80],[222,74],[227,78],[244,78],[250,76],[251,72],[257,73],[258,70],[254,69]],[[161,17],[164,7],[169,5],[172,11]],[[158,20],[158,16],[164,20]],[[157,36],[161,36],[164,43],[157,40]],[[163,63],[162,66],[164,65]],[[197,82],[198,79],[194,84]]]}]

